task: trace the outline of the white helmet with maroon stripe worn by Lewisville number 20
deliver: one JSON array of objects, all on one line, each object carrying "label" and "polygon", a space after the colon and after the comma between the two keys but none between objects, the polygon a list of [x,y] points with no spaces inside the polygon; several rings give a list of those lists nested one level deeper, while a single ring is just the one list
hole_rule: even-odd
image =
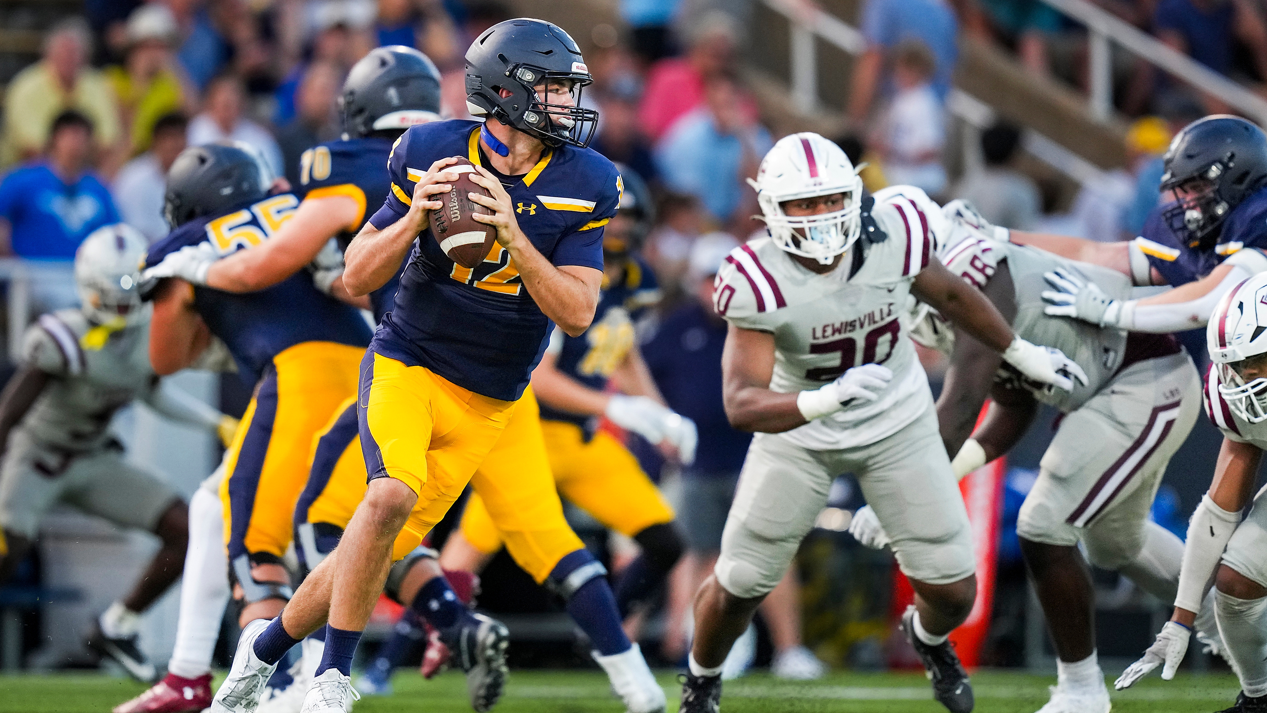
[{"label": "white helmet with maroon stripe worn by Lewisville number 20", "polygon": [[[863,180],[845,152],[817,133],[780,138],[748,183],[774,244],[793,255],[827,265],[862,235]],[[845,194],[840,211],[797,218],[783,212],[787,200],[834,193]]]}]

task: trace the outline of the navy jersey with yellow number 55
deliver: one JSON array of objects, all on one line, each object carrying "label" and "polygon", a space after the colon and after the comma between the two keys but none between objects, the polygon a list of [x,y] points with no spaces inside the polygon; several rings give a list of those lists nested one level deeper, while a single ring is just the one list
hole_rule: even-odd
[{"label": "navy jersey with yellow number 55", "polygon": [[[258,245],[272,237],[298,207],[299,197],[283,193],[190,221],[150,247],[146,266],[152,268],[167,254],[199,242],[210,242],[220,255]],[[243,294],[195,287],[194,308],[233,354],[242,378],[252,384],[275,355],[296,344],[333,341],[366,346],[370,343],[370,327],[361,313],[313,287],[308,270]]]}]

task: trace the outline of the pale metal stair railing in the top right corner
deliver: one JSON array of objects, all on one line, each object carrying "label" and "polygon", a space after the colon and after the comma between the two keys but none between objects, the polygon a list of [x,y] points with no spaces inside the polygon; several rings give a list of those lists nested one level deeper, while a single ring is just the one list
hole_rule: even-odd
[{"label": "pale metal stair railing in the top right corner", "polygon": [[1219,72],[1176,52],[1156,37],[1087,0],[1043,0],[1087,27],[1090,55],[1091,115],[1098,122],[1112,115],[1111,44],[1187,82],[1197,91],[1224,101],[1233,109],[1267,126],[1267,101]]}]

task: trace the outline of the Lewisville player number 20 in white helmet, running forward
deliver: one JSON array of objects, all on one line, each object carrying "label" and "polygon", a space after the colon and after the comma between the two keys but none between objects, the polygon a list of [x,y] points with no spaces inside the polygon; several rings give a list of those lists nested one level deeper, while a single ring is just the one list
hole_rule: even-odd
[{"label": "Lewisville player number 20 in white helmet, running forward", "polygon": [[972,710],[972,686],[946,641],[976,599],[972,534],[902,326],[906,299],[914,292],[1036,382],[1071,391],[1086,376],[1059,350],[1016,336],[938,261],[944,218],[919,189],[873,202],[844,152],[815,133],[779,140],[754,186],[769,237],[730,254],[713,301],[730,322],[726,415],[756,435],[721,556],[696,595],[682,710],[716,713],[726,653],[843,472],[858,476],[915,587],[902,628],[935,698]]}]

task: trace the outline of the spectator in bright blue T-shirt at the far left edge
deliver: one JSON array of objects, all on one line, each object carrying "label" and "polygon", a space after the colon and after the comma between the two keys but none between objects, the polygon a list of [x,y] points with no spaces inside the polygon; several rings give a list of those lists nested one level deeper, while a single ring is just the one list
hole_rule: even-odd
[{"label": "spectator in bright blue T-shirt at the far left edge", "polygon": [[109,189],[91,171],[92,122],[67,110],[53,119],[44,156],[0,181],[0,236],[29,260],[35,313],[73,306],[75,250],[119,222]]}]

